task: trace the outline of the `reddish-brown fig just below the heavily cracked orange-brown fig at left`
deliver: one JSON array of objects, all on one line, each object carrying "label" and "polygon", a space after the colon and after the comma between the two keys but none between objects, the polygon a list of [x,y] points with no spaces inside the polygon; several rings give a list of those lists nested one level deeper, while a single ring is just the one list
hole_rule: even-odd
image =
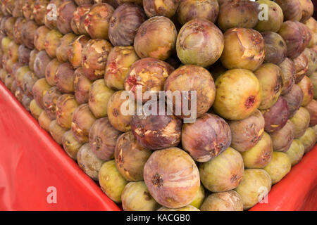
[{"label": "reddish-brown fig just below the heavily cracked orange-brown fig at left", "polygon": [[88,103],[89,89],[92,86],[92,81],[85,76],[82,68],[77,68],[74,72],[74,89],[77,103]]}]

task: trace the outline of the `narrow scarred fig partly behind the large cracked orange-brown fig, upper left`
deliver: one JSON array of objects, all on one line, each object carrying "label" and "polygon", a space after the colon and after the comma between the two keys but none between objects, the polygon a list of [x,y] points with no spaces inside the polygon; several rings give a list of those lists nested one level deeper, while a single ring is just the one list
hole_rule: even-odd
[{"label": "narrow scarred fig partly behind the large cracked orange-brown fig, upper left", "polygon": [[89,41],[89,37],[80,35],[73,39],[68,46],[68,60],[72,63],[73,68],[79,68],[82,65],[82,49]]}]

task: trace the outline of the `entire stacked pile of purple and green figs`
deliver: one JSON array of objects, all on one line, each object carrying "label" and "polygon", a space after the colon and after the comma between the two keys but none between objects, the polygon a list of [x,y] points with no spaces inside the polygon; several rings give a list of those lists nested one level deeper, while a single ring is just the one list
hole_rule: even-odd
[{"label": "entire stacked pile of purple and green figs", "polygon": [[1,82],[123,210],[248,210],[315,146],[311,0],[0,6]]}]

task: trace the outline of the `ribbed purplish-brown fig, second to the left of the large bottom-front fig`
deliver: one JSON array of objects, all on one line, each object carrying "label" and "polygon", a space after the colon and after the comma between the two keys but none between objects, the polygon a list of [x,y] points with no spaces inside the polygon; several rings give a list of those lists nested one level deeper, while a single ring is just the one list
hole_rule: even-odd
[{"label": "ribbed purplish-brown fig, second to the left of the large bottom-front fig", "polygon": [[89,131],[92,152],[101,160],[113,159],[116,141],[120,134],[120,131],[111,127],[107,117],[96,120]]}]

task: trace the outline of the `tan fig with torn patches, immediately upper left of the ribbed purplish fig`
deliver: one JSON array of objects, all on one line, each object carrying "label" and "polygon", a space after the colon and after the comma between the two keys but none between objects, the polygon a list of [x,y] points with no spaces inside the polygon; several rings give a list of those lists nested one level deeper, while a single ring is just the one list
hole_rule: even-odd
[{"label": "tan fig with torn patches, immediately upper left of the ribbed purplish fig", "polygon": [[87,143],[89,141],[89,129],[96,120],[92,111],[89,110],[88,104],[78,106],[73,112],[71,124],[75,139],[80,143]]}]

